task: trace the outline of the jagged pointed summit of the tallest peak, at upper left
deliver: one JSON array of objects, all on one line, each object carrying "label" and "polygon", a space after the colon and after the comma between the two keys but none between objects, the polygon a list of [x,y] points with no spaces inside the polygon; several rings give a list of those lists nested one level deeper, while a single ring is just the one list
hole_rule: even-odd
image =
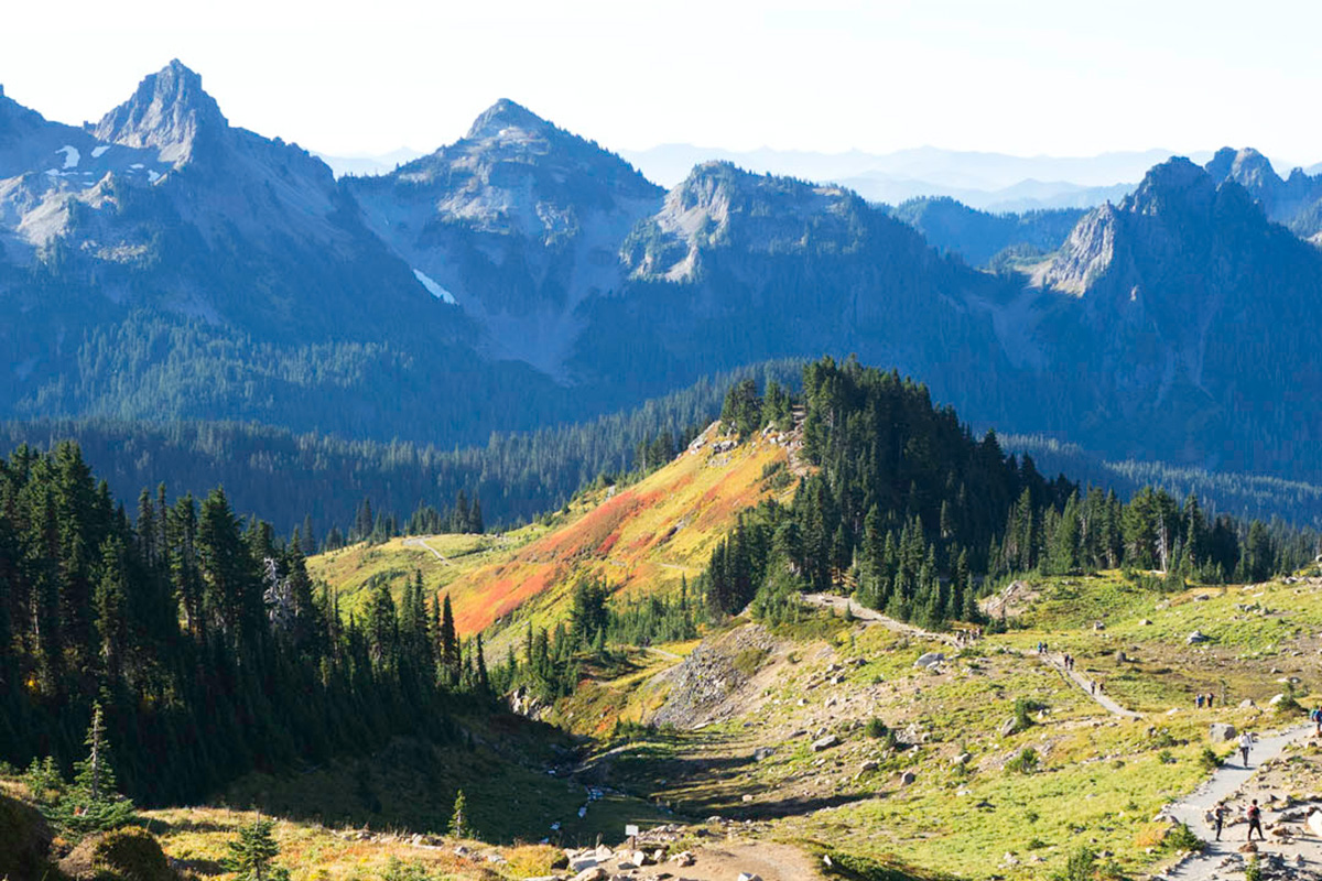
[{"label": "jagged pointed summit of the tallest peak, at upper left", "polygon": [[198,136],[227,125],[219,104],[202,88],[201,75],[176,58],[145,77],[93,133],[112,144],[156,147],[161,160],[182,162],[193,156]]}]

